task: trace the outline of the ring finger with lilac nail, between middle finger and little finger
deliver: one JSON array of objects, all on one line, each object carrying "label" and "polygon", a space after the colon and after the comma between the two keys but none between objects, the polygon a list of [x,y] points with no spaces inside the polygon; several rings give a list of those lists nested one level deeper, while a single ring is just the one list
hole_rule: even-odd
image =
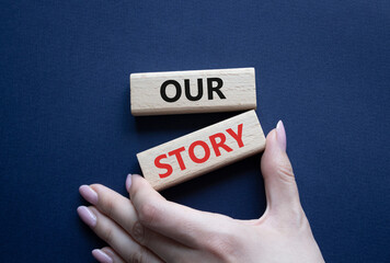
[{"label": "ring finger with lilac nail, between middle finger and little finger", "polygon": [[162,262],[151,251],[134,241],[123,228],[96,208],[80,206],[78,213],[80,218],[126,262]]}]

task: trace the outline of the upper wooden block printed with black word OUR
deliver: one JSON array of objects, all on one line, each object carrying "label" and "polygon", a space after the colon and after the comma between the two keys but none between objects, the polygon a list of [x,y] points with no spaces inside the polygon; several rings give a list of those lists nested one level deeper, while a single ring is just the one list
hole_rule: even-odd
[{"label": "upper wooden block printed with black word OUR", "polygon": [[135,116],[256,108],[254,68],[131,73],[130,101]]}]

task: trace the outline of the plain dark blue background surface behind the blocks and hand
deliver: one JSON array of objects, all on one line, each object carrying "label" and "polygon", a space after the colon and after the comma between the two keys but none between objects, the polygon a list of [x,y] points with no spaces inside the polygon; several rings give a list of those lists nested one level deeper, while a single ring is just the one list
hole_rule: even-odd
[{"label": "plain dark blue background surface behind the blocks and hand", "polygon": [[[135,153],[233,114],[135,118],[130,72],[255,67],[328,262],[389,262],[389,1],[1,1],[1,262],[94,262],[81,184],[126,194]],[[260,156],[163,192],[265,208]]]}]

